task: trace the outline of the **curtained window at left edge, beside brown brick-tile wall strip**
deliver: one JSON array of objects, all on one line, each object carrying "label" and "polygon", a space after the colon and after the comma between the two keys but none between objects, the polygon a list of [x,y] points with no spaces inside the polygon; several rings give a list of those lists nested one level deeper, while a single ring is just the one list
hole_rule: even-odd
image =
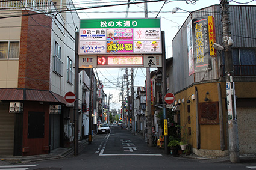
[{"label": "curtained window at left edge, beside brown brick-tile wall strip", "polygon": [[0,42],[0,58],[19,58],[19,41]]}]

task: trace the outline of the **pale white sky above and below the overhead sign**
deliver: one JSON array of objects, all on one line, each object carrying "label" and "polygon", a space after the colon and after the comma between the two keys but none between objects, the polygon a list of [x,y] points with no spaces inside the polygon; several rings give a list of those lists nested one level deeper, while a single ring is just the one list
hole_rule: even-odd
[{"label": "pale white sky above and below the overhead sign", "polygon": [[[130,2],[137,2],[138,0],[131,0]],[[149,0],[148,0],[149,1]],[[152,1],[152,0],[150,0]],[[88,8],[86,10],[78,10],[80,19],[120,19],[120,18],[144,18],[145,10],[144,4],[131,4],[129,5],[117,5],[124,4],[127,1],[124,0],[73,0],[76,9]],[[242,4],[241,4],[242,3]],[[116,5],[113,7],[102,7],[102,5]],[[201,8],[209,7],[211,5],[220,4],[219,0],[173,0],[173,1],[158,1],[148,3],[148,18],[161,18],[161,30],[165,32],[166,43],[166,58],[172,57],[172,40],[176,33],[180,29],[181,25],[189,16],[189,12],[195,11]],[[236,0],[229,2],[231,5],[256,5],[256,1],[252,0]],[[100,7],[101,8],[96,8]],[[176,13],[172,13],[173,8],[179,7],[182,10],[178,10]],[[128,12],[127,12],[128,11]],[[146,80],[146,68],[133,68],[134,69],[134,90],[137,90],[138,86],[144,87]],[[151,68],[155,70],[156,68]],[[104,85],[104,93],[112,95],[110,99],[110,109],[121,109],[121,99],[119,95],[122,87],[122,77],[125,73],[125,68],[95,68],[96,76]],[[130,70],[130,68],[129,68]],[[128,71],[130,75],[131,71]],[[130,79],[130,78],[129,78]],[[126,85],[125,85],[126,87]],[[125,88],[126,90],[126,88]]]}]

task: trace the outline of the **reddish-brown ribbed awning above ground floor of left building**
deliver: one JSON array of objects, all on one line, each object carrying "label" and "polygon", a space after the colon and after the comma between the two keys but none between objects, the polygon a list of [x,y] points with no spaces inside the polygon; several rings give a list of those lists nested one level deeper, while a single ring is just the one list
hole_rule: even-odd
[{"label": "reddish-brown ribbed awning above ground floor of left building", "polygon": [[26,100],[40,102],[60,102],[66,104],[63,96],[46,90],[0,88],[0,100]]}]

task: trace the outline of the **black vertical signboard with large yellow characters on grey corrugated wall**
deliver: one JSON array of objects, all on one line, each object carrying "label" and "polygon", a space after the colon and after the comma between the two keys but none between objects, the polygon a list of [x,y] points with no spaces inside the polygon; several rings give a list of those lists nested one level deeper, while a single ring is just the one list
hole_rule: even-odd
[{"label": "black vertical signboard with large yellow characters on grey corrugated wall", "polygon": [[208,16],[192,20],[195,73],[212,70]]}]

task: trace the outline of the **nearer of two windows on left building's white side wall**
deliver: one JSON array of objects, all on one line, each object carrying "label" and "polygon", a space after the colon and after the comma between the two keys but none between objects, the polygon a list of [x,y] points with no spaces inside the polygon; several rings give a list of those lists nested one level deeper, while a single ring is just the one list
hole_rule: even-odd
[{"label": "nearer of two windows on left building's white side wall", "polygon": [[61,61],[61,47],[55,41],[54,46],[54,73],[58,74],[58,76],[63,76],[63,62]]}]

